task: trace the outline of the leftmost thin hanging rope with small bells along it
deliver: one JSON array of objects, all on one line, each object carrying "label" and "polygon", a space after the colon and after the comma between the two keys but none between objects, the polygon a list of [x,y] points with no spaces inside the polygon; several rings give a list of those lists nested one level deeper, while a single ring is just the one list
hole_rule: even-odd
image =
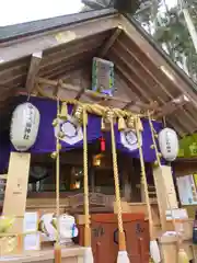
[{"label": "leftmost thin hanging rope with small bells along it", "polygon": [[[59,116],[59,99],[57,99],[57,116]],[[56,138],[56,216],[57,216],[57,235],[55,244],[55,263],[61,263],[61,247],[60,247],[60,229],[59,229],[59,118],[57,118],[57,138]]]}]

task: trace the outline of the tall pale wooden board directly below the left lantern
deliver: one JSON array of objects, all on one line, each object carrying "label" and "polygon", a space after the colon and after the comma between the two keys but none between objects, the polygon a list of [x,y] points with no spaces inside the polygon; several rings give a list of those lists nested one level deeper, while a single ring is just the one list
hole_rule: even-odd
[{"label": "tall pale wooden board directly below the left lantern", "polygon": [[2,214],[15,218],[13,226],[9,229],[10,233],[19,235],[16,250],[12,253],[21,253],[23,250],[20,235],[23,232],[30,164],[31,153],[11,152]]}]

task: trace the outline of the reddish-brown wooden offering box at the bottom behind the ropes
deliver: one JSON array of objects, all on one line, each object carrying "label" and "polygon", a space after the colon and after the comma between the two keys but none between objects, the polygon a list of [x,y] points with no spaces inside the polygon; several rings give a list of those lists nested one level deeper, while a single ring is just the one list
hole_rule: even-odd
[{"label": "reddish-brown wooden offering box at the bottom behind the ropes", "polygon": [[[130,262],[149,262],[149,229],[143,214],[123,214]],[[79,217],[79,243],[83,245],[83,216]],[[118,253],[117,215],[91,215],[92,249],[95,263],[114,263]]]}]

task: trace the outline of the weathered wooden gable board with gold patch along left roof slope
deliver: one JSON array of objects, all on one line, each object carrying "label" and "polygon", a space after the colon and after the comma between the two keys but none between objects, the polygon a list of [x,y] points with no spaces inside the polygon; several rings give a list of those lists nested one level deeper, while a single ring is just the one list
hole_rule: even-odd
[{"label": "weathered wooden gable board with gold patch along left roof slope", "polygon": [[74,23],[63,26],[58,30],[37,34],[34,37],[20,38],[20,44],[11,43],[10,45],[0,45],[1,59],[3,62],[19,59],[28,56],[37,50],[55,48],[59,45],[83,39],[88,36],[97,35],[116,28],[119,24],[117,15],[108,18],[102,16],[95,20],[90,20],[81,23]]}]

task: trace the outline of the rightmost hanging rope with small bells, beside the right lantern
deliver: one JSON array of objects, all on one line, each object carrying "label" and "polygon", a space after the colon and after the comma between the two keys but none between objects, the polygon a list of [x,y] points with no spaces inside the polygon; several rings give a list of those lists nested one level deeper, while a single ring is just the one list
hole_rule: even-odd
[{"label": "rightmost hanging rope with small bells, beside the right lantern", "polygon": [[[158,162],[158,165],[161,167],[161,160],[160,160],[161,155],[158,150],[158,146],[157,146],[157,142],[155,142],[155,132],[154,132],[154,127],[152,125],[152,121],[151,121],[151,116],[150,116],[149,111],[148,111],[148,118],[149,118],[149,126],[150,126],[151,135],[152,135],[153,148],[155,150],[157,162]],[[167,204],[169,204],[169,207],[170,207],[170,210],[171,210],[173,226],[174,226],[174,229],[176,230],[176,222],[175,222],[175,218],[174,218],[174,215],[173,215],[173,209],[172,209],[172,206],[171,206],[171,202],[169,199],[169,195],[166,195],[166,201],[167,201]],[[176,232],[176,236],[178,238],[178,241],[177,241],[177,247],[178,247],[177,263],[189,263],[187,253],[185,252],[184,249],[181,248],[182,240],[179,239],[179,235],[177,232]]]}]

